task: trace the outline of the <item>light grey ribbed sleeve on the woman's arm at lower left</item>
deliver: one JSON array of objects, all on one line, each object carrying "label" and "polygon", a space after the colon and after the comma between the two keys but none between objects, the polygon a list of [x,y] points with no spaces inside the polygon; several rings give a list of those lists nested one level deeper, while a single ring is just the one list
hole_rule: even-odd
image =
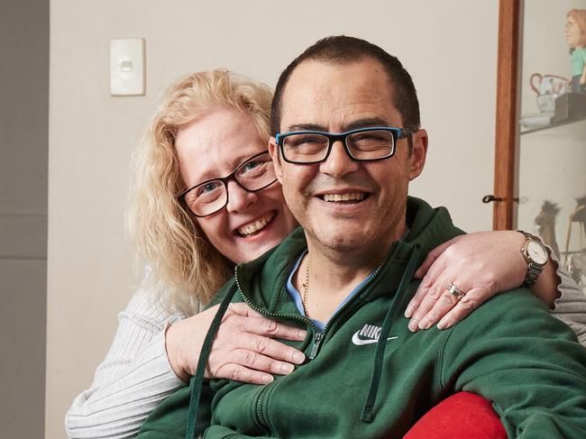
[{"label": "light grey ribbed sleeve on the woman's arm at lower left", "polygon": [[171,369],[165,328],[178,320],[141,289],[118,316],[114,342],[92,386],[65,417],[71,438],[123,438],[136,434],[160,402],[185,384]]}]

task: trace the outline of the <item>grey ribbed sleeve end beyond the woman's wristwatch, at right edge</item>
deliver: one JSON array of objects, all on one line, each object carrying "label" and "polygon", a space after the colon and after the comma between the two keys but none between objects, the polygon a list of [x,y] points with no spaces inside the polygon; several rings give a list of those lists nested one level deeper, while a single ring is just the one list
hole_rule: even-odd
[{"label": "grey ribbed sleeve end beyond the woman's wristwatch, at right edge", "polygon": [[560,297],[555,300],[552,314],[569,325],[578,341],[586,346],[586,295],[559,263],[556,273],[561,279],[557,287]]}]

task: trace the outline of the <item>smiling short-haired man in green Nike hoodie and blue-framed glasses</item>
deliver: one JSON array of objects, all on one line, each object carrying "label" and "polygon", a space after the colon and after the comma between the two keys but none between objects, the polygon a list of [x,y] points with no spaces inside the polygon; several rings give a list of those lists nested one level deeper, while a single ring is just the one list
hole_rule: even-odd
[{"label": "smiling short-haired man in green Nike hoodie and blue-framed glasses", "polygon": [[494,297],[445,331],[407,328],[418,264],[462,232],[444,208],[407,199],[427,134],[398,59],[350,37],[318,41],[279,78],[272,132],[303,230],[239,266],[217,300],[307,327],[298,348],[308,361],[267,386],[206,383],[197,406],[202,353],[192,407],[179,390],[142,437],[183,437],[188,413],[188,436],[400,437],[462,390],[492,401],[509,436],[586,437],[586,352],[528,291]]}]

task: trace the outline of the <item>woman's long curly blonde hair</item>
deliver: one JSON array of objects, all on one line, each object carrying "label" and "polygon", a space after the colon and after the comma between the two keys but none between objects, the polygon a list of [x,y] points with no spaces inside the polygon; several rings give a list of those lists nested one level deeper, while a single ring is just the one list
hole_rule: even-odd
[{"label": "woman's long curly blonde hair", "polygon": [[179,204],[177,195],[185,187],[179,177],[177,134],[202,114],[236,108],[251,115],[268,143],[271,99],[270,87],[225,69],[180,78],[167,89],[133,154],[127,233],[151,266],[146,287],[171,312],[197,313],[233,270],[232,261],[215,250]]}]

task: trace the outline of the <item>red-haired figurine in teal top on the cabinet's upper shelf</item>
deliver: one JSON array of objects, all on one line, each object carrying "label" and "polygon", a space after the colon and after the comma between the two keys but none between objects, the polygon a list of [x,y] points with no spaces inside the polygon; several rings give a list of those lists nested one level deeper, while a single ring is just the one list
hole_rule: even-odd
[{"label": "red-haired figurine in teal top on the cabinet's upper shelf", "polygon": [[586,9],[572,9],[565,23],[565,38],[572,58],[572,93],[586,93]]}]

